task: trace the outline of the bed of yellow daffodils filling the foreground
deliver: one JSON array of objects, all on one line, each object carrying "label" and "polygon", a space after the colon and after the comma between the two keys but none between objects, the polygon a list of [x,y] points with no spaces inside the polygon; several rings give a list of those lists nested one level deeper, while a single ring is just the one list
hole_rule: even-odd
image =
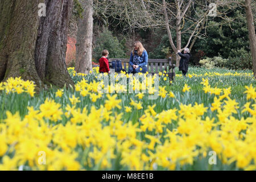
[{"label": "bed of yellow daffodils filling the foreground", "polygon": [[150,100],[155,76],[128,93],[124,73],[106,87],[98,68],[68,71],[75,88],[0,84],[0,170],[256,169],[252,73],[193,68],[172,82],[160,72]]}]

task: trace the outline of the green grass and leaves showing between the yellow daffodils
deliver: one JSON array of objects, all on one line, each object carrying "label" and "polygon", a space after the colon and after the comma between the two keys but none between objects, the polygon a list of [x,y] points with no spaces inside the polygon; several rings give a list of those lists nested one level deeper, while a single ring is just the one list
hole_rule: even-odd
[{"label": "green grass and leaves showing between the yellow daffodils", "polygon": [[[161,78],[161,81],[159,83],[160,86],[166,86],[166,90],[168,92],[172,91],[175,94],[175,98],[161,98],[158,97],[157,100],[148,100],[147,94],[145,97],[142,98],[142,100],[138,100],[138,97],[135,97],[135,93],[133,94],[117,94],[117,98],[121,99],[121,109],[112,109],[112,113],[123,113],[122,115],[122,121],[124,123],[126,122],[133,122],[136,123],[139,121],[139,118],[142,117],[144,114],[145,110],[147,109],[147,106],[152,106],[156,104],[156,107],[154,110],[156,113],[160,113],[163,110],[168,110],[168,109],[174,109],[177,108],[179,109],[180,104],[188,105],[192,104],[194,105],[195,102],[197,104],[204,104],[205,107],[210,107],[214,95],[212,94],[205,94],[203,89],[203,85],[200,84],[202,82],[202,78],[208,78],[209,79],[209,85],[214,88],[228,88],[229,86],[231,87],[232,93],[230,95],[230,98],[233,100],[236,100],[238,102],[238,106],[240,109],[238,110],[237,114],[234,114],[234,117],[237,119],[247,118],[250,117],[249,113],[244,113],[241,114],[241,107],[246,104],[246,94],[243,93],[245,92],[245,86],[249,86],[252,84],[254,88],[256,87],[256,81],[252,76],[199,76],[199,77],[186,77],[184,78],[183,76],[179,76],[181,74],[180,71],[175,68],[175,72],[177,74],[175,81],[172,82],[172,84],[169,84],[169,81],[163,81],[163,78]],[[213,73],[217,72],[220,74],[224,73],[251,73],[251,71],[248,70],[241,70],[241,71],[230,71],[228,69],[221,69],[221,68],[214,68],[214,69],[205,69],[205,68],[195,68],[195,67],[189,67],[188,74],[205,74],[205,73]],[[88,80],[88,82],[92,82],[94,80],[97,80],[95,77],[97,76],[96,73],[90,74],[85,76],[85,79]],[[71,76],[73,81],[77,83],[82,79],[81,76]],[[184,85],[187,84],[188,86],[191,87],[190,92],[182,92],[182,89]],[[63,88],[64,89],[64,94],[61,98],[56,97],[55,92],[57,91],[57,88],[52,86],[49,88],[47,91],[42,90],[39,94],[35,95],[34,97],[30,97],[26,93],[22,94],[6,94],[3,91],[0,92],[0,122],[2,119],[6,118],[6,111],[11,111],[11,113],[15,114],[18,112],[20,114],[20,117],[24,118],[24,116],[27,114],[28,106],[33,106],[35,110],[39,110],[39,107],[41,104],[44,103],[46,98],[51,98],[52,100],[55,100],[55,102],[59,103],[61,105],[61,109],[65,110],[65,107],[69,104],[71,105],[71,101],[69,101],[69,97],[72,97],[72,95],[75,95],[76,97],[79,97],[79,100],[81,102],[77,103],[76,108],[80,108],[81,110],[86,107],[86,109],[90,112],[90,109],[92,106],[95,106],[97,109],[100,108],[102,104],[104,104],[105,100],[107,100],[106,94],[103,94],[102,98],[98,99],[96,102],[92,102],[89,98],[89,96],[82,97],[80,96],[79,92],[76,92],[74,89],[75,88]],[[141,110],[136,110],[133,109],[131,113],[126,113],[125,112],[125,106],[130,106],[130,99],[133,99],[134,101],[141,101],[143,109]],[[113,114],[112,114],[113,115]],[[216,111],[210,111],[210,108],[208,108],[208,111],[203,115],[202,119],[205,119],[206,117],[210,118],[217,118],[217,113]],[[65,125],[67,122],[69,122],[69,119],[63,116],[63,119],[61,121],[58,121],[58,123],[63,123]],[[105,124],[104,124],[105,125]],[[164,129],[164,133],[166,134],[166,130],[173,130],[176,129],[178,126],[177,122],[172,122],[171,125],[167,126]],[[154,132],[146,132],[145,134],[151,134],[155,135],[156,133]],[[144,134],[138,135],[140,140],[145,140]],[[163,141],[162,141],[163,142]],[[77,147],[76,150],[79,152],[79,159],[85,160],[86,156],[88,155],[88,152],[91,150],[91,148],[88,148],[86,150],[82,150],[82,148]],[[115,159],[113,160],[113,170],[118,170],[118,169],[127,169],[127,167],[122,167],[119,165],[119,160],[120,159]],[[204,158],[203,156],[197,156],[197,158],[194,160],[195,163],[193,165],[186,164],[184,166],[176,166],[177,170],[237,170],[236,166],[234,163],[230,165],[224,165],[221,164],[221,161],[217,159],[217,165],[210,166],[208,164],[208,158]],[[1,162],[1,158],[0,158]],[[86,168],[86,169],[98,169],[98,166],[94,166],[93,168]],[[163,169],[164,168],[158,168],[158,169]]]}]

